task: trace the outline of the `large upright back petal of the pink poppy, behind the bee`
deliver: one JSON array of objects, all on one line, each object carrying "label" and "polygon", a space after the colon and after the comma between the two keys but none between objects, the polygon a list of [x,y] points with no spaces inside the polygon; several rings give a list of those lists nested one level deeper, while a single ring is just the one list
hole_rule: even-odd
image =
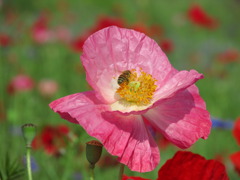
[{"label": "large upright back petal of the pink poppy, behind the bee", "polygon": [[165,79],[172,70],[166,55],[158,44],[143,33],[111,26],[90,36],[84,46],[81,60],[87,81],[98,97],[108,103],[115,102],[115,89],[111,80],[124,70],[142,68],[158,79]]}]

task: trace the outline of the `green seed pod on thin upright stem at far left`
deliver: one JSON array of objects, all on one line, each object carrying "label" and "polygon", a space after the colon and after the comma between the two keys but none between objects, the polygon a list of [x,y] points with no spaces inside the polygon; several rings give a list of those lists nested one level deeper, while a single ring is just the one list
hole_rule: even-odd
[{"label": "green seed pod on thin upright stem at far left", "polygon": [[32,141],[36,135],[36,126],[34,124],[24,124],[22,126],[22,133],[26,146],[31,148]]}]

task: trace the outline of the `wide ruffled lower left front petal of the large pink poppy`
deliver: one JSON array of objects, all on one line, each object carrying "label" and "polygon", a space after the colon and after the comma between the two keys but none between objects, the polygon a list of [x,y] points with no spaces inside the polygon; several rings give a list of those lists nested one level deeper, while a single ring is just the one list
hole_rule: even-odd
[{"label": "wide ruffled lower left front petal of the large pink poppy", "polygon": [[147,172],[158,165],[158,147],[141,116],[109,112],[108,106],[101,104],[93,91],[63,97],[50,107],[62,118],[79,123],[131,170]]}]

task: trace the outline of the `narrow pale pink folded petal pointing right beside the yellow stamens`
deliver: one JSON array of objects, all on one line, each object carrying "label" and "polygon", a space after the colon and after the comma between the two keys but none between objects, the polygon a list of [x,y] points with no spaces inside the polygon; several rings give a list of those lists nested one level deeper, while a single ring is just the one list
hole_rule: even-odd
[{"label": "narrow pale pink folded petal pointing right beside the yellow stamens", "polygon": [[166,78],[157,92],[154,95],[155,100],[161,100],[174,96],[180,90],[186,89],[187,87],[193,85],[197,80],[202,79],[203,75],[199,74],[195,70],[191,71],[180,71],[172,70],[169,73],[169,78]]}]

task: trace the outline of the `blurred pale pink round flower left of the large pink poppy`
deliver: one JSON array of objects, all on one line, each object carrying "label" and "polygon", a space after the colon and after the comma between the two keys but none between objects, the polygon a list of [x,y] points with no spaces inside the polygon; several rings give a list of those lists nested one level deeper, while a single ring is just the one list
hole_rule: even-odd
[{"label": "blurred pale pink round flower left of the large pink poppy", "polygon": [[38,83],[38,91],[42,96],[51,97],[58,91],[58,83],[54,80],[43,79]]}]

